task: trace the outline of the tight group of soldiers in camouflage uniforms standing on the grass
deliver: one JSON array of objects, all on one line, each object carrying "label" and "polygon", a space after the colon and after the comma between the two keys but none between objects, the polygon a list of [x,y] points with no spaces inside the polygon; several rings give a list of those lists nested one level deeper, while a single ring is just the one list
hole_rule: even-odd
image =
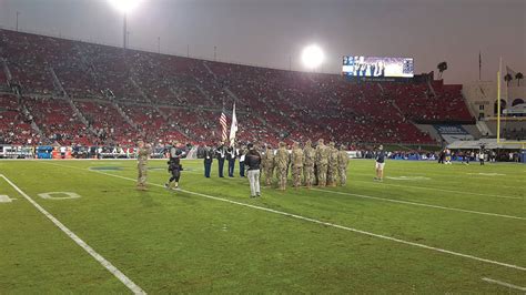
[{"label": "tight group of soldiers in camouflage uniforms standing on the grass", "polygon": [[276,151],[266,145],[262,151],[262,167],[265,185],[273,184],[276,175],[277,190],[286,190],[287,175],[292,175],[292,186],[313,185],[320,187],[346,185],[348,155],[345,146],[336,149],[334,142],[325,145],[323,140],[317,142],[316,148],[311,141],[306,141],[302,148],[300,143],[292,144],[292,150],[286,150],[286,144],[281,142]]}]

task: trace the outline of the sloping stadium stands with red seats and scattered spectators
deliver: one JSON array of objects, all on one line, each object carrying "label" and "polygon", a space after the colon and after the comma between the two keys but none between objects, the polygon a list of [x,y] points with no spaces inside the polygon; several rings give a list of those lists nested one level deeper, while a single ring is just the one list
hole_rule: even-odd
[{"label": "sloping stadium stands with red seats and scattered spectators", "polygon": [[213,144],[223,105],[239,139],[437,145],[416,124],[473,124],[462,85],[353,83],[0,30],[0,143]]}]

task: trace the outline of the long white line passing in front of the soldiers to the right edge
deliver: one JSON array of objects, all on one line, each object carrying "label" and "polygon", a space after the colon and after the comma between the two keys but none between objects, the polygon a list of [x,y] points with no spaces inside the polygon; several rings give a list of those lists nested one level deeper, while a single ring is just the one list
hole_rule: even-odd
[{"label": "long white line passing in front of the soldiers to the right edge", "polygon": [[[64,166],[65,167],[71,167],[71,169],[77,169],[77,170],[82,170],[82,171],[85,171],[85,172],[100,173],[100,174],[104,174],[104,175],[108,175],[108,176],[113,176],[113,177],[128,180],[128,181],[132,181],[132,182],[136,181],[136,180],[131,179],[131,177],[125,177],[125,176],[115,175],[115,174],[111,174],[111,173],[104,173],[104,172],[101,172],[101,171],[84,170],[84,169],[72,167],[72,166],[67,166],[67,165],[64,165]],[[160,185],[160,184],[156,184],[156,183],[149,183],[149,184],[154,185],[154,186],[159,186],[159,187],[164,187],[163,185]],[[419,243],[414,243],[414,242],[409,242],[409,241],[399,240],[399,238],[396,238],[396,237],[391,237],[391,236],[386,236],[386,235],[381,235],[381,234],[375,234],[375,233],[371,233],[371,232],[366,232],[366,231],[361,231],[361,230],[357,230],[357,228],[347,227],[347,226],[335,224],[335,223],[323,222],[323,221],[318,221],[318,220],[314,220],[314,218],[310,218],[310,217],[304,217],[304,216],[292,214],[292,213],[286,213],[286,212],[282,212],[282,211],[277,211],[277,210],[273,210],[273,208],[267,208],[267,207],[261,207],[261,206],[256,206],[256,205],[251,205],[251,204],[246,204],[246,203],[243,203],[243,202],[236,202],[236,201],[232,201],[232,200],[227,200],[227,199],[223,199],[223,197],[206,195],[206,194],[196,193],[196,192],[186,191],[186,190],[179,190],[179,191],[183,192],[183,193],[188,193],[188,194],[203,196],[203,197],[206,197],[206,199],[210,199],[210,200],[215,200],[215,201],[221,201],[221,202],[235,204],[235,205],[240,205],[240,206],[245,206],[245,207],[251,207],[251,208],[261,210],[261,211],[265,211],[265,212],[271,212],[271,213],[279,214],[279,215],[284,215],[284,216],[287,216],[287,217],[302,220],[302,221],[306,221],[306,222],[312,222],[312,223],[315,223],[315,224],[331,226],[331,227],[335,227],[335,228],[340,228],[340,230],[344,230],[344,231],[350,231],[350,232],[354,232],[354,233],[358,233],[358,234],[363,234],[363,235],[367,235],[367,236],[373,236],[373,237],[377,237],[377,238],[382,238],[382,240],[387,240],[387,241],[391,241],[391,242],[396,242],[396,243],[401,243],[401,244],[405,244],[405,245],[411,245],[411,246],[426,248],[426,250],[431,250],[431,251],[435,251],[435,252],[439,252],[439,253],[444,253],[444,254],[449,254],[449,255],[453,255],[453,256],[464,257],[464,258],[468,258],[468,260],[473,260],[473,261],[478,261],[478,262],[483,262],[483,263],[487,263],[487,264],[494,264],[494,265],[499,265],[499,266],[504,266],[504,267],[507,267],[507,268],[514,268],[514,269],[518,269],[518,271],[522,271],[522,272],[526,272],[526,267],[519,266],[519,265],[492,261],[492,260],[482,258],[482,257],[477,257],[477,256],[469,255],[469,254],[463,254],[463,253],[454,252],[454,251],[449,251],[449,250],[427,246],[427,245],[419,244]]]}]

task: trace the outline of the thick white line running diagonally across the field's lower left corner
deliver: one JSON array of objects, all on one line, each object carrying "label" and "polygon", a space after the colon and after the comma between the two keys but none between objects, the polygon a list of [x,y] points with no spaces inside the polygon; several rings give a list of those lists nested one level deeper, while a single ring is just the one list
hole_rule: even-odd
[{"label": "thick white line running diagonally across the field's lower left corner", "polygon": [[65,227],[63,223],[57,220],[37,202],[34,202],[28,194],[20,190],[14,183],[12,183],[6,175],[0,174],[0,177],[6,180],[17,192],[19,192],[26,200],[29,201],[38,211],[40,211],[45,217],[48,217],[54,225],[57,225],[62,232],[64,232],[73,242],[82,247],[88,254],[90,254],[95,261],[98,261],[102,266],[104,266],[111,274],[113,274],[119,281],[121,281],[133,294],[146,294],[140,286],[133,283],[128,276],[125,276],[121,271],[119,271],[111,262],[107,261],[99,253],[97,253],[90,245],[82,241],[77,234],[71,230]]}]

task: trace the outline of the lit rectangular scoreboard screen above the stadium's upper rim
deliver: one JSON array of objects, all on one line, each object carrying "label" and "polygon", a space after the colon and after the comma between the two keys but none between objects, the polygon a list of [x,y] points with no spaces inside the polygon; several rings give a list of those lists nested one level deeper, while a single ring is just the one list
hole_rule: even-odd
[{"label": "lit rectangular scoreboard screen above the stadium's upper rim", "polygon": [[412,58],[343,57],[342,72],[350,77],[414,77]]}]

